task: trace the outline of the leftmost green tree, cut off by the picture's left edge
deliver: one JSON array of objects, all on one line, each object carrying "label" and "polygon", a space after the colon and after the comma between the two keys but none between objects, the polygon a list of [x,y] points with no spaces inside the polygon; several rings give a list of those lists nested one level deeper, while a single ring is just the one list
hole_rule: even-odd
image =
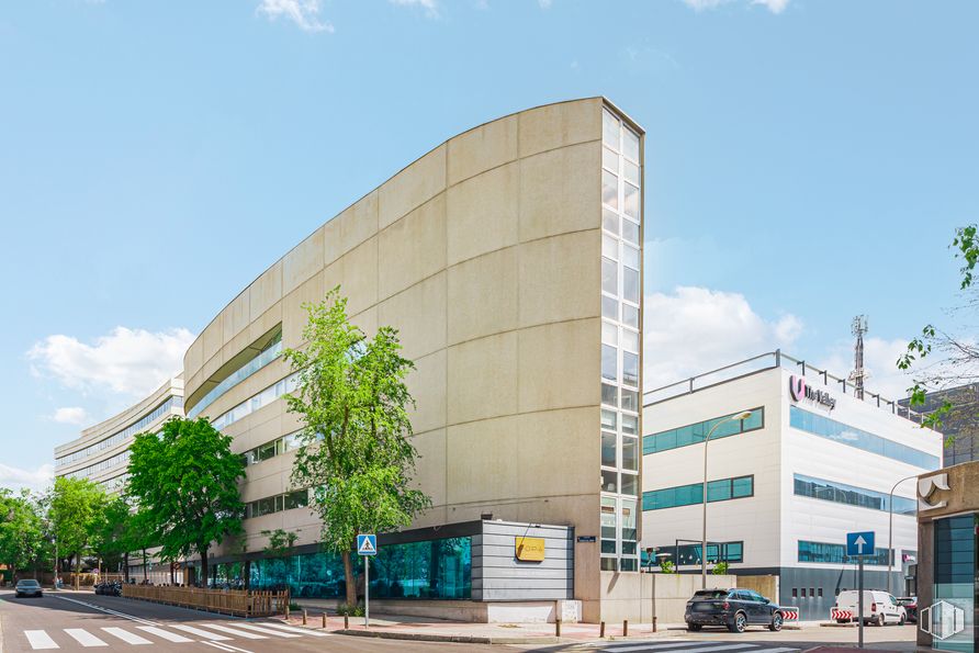
[{"label": "leftmost green tree, cut off by the picture's left edge", "polygon": [[27,489],[13,494],[0,488],[0,562],[10,566],[13,577],[19,568],[34,567],[45,548],[41,504]]}]

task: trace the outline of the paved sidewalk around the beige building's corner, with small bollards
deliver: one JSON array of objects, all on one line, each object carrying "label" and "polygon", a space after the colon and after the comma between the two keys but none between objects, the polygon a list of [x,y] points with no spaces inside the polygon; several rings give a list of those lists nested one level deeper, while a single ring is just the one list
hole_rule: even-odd
[{"label": "paved sidewalk around the beige building's corner, with small bollards", "polygon": [[[306,608],[306,628],[322,630],[323,612],[308,604]],[[302,627],[302,612],[293,612],[288,623]],[[597,623],[562,623],[561,637],[558,638],[554,623],[473,623],[394,615],[372,615],[370,628],[364,628],[363,617],[350,617],[349,628],[345,630],[344,617],[330,613],[326,630],[357,637],[470,644],[572,644],[600,639],[600,627]],[[606,624],[605,639],[648,640],[685,633],[686,628],[683,624],[661,624],[657,632],[653,633],[650,623],[629,623],[629,634],[623,638],[622,623],[616,623]]]}]

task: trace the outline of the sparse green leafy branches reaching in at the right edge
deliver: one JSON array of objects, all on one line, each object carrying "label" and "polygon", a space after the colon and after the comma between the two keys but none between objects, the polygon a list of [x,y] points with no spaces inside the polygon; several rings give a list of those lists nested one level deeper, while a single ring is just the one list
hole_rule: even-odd
[{"label": "sparse green leafy branches reaching in at the right edge", "polygon": [[[972,273],[979,263],[979,230],[977,225],[959,227],[955,230],[952,240],[952,249],[955,258],[963,261],[959,269],[961,279],[959,290],[964,293],[965,304],[953,313],[972,313],[979,305],[979,286],[974,284]],[[926,325],[921,335],[908,344],[908,349],[898,359],[898,368],[904,371],[911,370],[915,363],[937,354],[941,359],[932,364],[920,367],[914,374],[914,385],[911,387],[911,406],[921,408],[926,405],[930,392],[946,390],[948,387],[965,385],[979,381],[979,345],[971,337],[959,337],[947,329]],[[924,425],[941,429],[943,418],[952,410],[953,404],[948,398],[942,401],[936,409],[924,418]],[[975,410],[971,412],[975,420]]]}]

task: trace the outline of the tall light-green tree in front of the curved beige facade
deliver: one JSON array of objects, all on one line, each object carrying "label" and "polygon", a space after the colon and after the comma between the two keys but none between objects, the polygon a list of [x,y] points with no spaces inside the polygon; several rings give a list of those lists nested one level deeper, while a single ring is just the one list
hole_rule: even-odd
[{"label": "tall light-green tree in front of the curved beige facade", "polygon": [[350,324],[338,288],[304,307],[308,345],[283,353],[299,372],[295,395],[285,397],[289,410],[304,425],[292,483],[312,487],[323,545],[342,556],[347,603],[356,605],[357,536],[408,526],[431,505],[409,487],[417,452],[405,378],[415,365],[401,356],[396,329],[382,326],[369,339]]}]

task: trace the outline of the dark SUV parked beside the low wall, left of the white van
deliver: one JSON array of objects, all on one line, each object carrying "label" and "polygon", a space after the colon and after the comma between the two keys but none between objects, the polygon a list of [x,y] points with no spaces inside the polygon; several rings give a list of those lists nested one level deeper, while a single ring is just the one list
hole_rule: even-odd
[{"label": "dark SUV parked beside the low wall, left of the white van", "polygon": [[779,631],[784,615],[770,600],[752,589],[700,589],[687,601],[684,621],[687,630],[705,626],[725,626],[731,632],[744,632],[749,626],[766,626]]}]

